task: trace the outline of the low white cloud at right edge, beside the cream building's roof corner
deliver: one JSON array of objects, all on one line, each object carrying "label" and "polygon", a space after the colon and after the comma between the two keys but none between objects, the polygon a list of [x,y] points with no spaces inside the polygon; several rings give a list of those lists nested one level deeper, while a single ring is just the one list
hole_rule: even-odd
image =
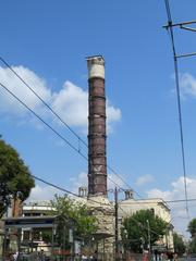
[{"label": "low white cloud at right edge, beside the cream building's roof corner", "polygon": [[[196,198],[196,178],[186,178],[187,184],[187,197]],[[147,192],[149,198],[162,198],[166,201],[170,200],[179,200],[184,199],[184,177],[181,176],[179,179],[173,181],[171,183],[171,189],[169,190],[161,190],[158,188],[150,189]],[[174,229],[184,234],[188,237],[187,224],[189,219],[187,217],[186,213],[186,204],[185,202],[177,202],[177,203],[169,203],[172,213],[172,223],[174,224]],[[196,208],[195,204],[188,202],[188,212],[189,217],[193,219],[196,216]]]}]

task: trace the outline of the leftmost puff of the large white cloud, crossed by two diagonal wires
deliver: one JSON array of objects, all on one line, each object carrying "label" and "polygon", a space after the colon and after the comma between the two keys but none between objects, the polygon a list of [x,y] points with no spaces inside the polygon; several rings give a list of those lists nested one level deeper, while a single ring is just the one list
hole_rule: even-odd
[{"label": "leftmost puff of the large white cloud, crossed by two diagonal wires", "polygon": [[[45,79],[37,76],[30,70],[16,66],[13,70],[25,79],[34,90],[42,97],[47,102],[51,99],[51,92],[47,88]],[[13,94],[15,94],[22,101],[24,101],[33,110],[42,110],[41,101],[9,70],[0,67],[0,82],[5,85]],[[0,92],[0,110],[10,114],[24,115],[27,110],[19,103],[12,96],[10,96],[1,87]]]}]

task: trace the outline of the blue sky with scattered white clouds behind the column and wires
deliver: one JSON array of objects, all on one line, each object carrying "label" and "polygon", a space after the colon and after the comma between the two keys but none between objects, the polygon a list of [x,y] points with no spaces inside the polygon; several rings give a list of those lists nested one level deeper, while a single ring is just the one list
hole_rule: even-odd
[{"label": "blue sky with scattered white clouds behind the column and wires", "polygon": [[[173,22],[195,18],[193,0],[171,0]],[[2,1],[1,57],[86,139],[87,55],[106,59],[108,163],[142,197],[184,197],[173,61],[163,0]],[[177,53],[194,52],[194,33],[175,30]],[[180,60],[188,197],[196,197],[195,59]],[[0,79],[77,146],[0,64]],[[87,162],[0,89],[1,130],[33,174],[75,190]],[[82,150],[85,153],[85,150]],[[110,172],[109,172],[110,174]],[[121,182],[112,175],[112,179]],[[53,194],[37,183],[33,198]],[[191,216],[196,213],[194,204]],[[185,232],[184,204],[174,209]]]}]

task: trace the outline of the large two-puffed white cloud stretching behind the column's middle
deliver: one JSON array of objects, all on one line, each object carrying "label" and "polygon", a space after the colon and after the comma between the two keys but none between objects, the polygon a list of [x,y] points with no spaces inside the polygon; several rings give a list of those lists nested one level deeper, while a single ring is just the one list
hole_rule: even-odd
[{"label": "large two-puffed white cloud stretching behind the column's middle", "polygon": [[[87,129],[88,92],[66,80],[62,89],[52,92],[45,79],[24,66],[13,70],[71,126]],[[41,101],[8,69],[0,67],[0,82],[40,115],[46,113]],[[26,117],[27,110],[2,89],[0,91],[0,113]],[[109,129],[111,123],[121,119],[121,111],[107,102]]]}]

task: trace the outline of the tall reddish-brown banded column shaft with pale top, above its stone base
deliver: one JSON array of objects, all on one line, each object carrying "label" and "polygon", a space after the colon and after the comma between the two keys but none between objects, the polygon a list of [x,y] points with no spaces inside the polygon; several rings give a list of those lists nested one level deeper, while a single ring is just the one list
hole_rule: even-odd
[{"label": "tall reddish-brown banded column shaft with pale top, above its stone base", "polygon": [[105,59],[88,57],[88,195],[107,195]]}]

